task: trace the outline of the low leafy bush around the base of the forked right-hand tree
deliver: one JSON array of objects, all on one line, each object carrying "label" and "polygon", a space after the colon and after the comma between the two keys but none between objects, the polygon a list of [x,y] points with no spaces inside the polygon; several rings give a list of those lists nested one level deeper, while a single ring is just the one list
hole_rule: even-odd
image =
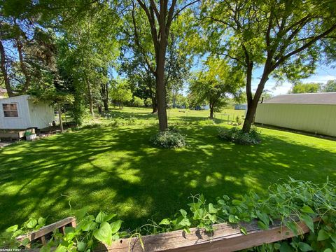
[{"label": "low leafy bush around the base of the forked right-hand tree", "polygon": [[242,132],[238,127],[233,127],[230,130],[221,129],[218,137],[244,145],[260,144],[261,142],[260,132],[255,127],[252,127],[249,133]]}]

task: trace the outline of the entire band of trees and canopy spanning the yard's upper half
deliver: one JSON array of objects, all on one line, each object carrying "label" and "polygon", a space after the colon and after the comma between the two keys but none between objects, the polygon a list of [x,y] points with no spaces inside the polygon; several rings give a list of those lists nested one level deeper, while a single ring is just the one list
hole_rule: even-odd
[{"label": "entire band of trees and canopy spanning the yard's upper half", "polygon": [[169,105],[207,103],[211,117],[246,99],[248,132],[269,78],[297,83],[335,62],[335,10],[318,0],[3,0],[1,85],[9,96],[69,99],[78,125],[111,100],[151,106],[160,130]]}]

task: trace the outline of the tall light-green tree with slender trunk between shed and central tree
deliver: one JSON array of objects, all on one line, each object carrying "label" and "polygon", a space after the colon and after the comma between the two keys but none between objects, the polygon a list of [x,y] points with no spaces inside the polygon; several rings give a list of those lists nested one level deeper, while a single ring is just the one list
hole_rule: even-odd
[{"label": "tall light-green tree with slender trunk between shed and central tree", "polygon": [[71,16],[73,11],[77,11],[76,8],[64,14],[66,18],[65,21],[60,21],[59,30],[66,50],[64,57],[69,59],[67,70],[71,72],[76,89],[79,90],[76,92],[78,95],[75,96],[74,104],[77,104],[76,99],[83,100],[85,93],[90,114],[93,116],[94,104],[101,108],[102,97],[105,109],[108,109],[107,71],[111,62],[118,57],[116,37],[120,19],[116,8],[111,7],[108,2],[91,3],[89,10],[80,12],[80,17],[77,16],[76,19]]}]

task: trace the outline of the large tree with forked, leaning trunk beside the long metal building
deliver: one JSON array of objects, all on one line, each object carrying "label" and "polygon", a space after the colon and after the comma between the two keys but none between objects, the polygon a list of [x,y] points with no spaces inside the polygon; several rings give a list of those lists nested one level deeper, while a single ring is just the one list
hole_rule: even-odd
[{"label": "large tree with forked, leaning trunk beside the long metal building", "polygon": [[[212,41],[216,42],[212,49],[246,71],[244,132],[251,129],[269,77],[292,80],[309,76],[325,48],[323,42],[336,29],[335,1],[209,0],[204,8],[204,23],[217,39]],[[253,96],[252,73],[258,66],[262,75]]]}]

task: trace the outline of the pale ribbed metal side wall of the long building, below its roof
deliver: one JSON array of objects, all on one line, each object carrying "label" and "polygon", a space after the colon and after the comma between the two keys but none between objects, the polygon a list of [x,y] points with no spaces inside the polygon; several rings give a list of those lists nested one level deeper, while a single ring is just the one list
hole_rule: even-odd
[{"label": "pale ribbed metal side wall of the long building, below its roof", "polygon": [[336,137],[336,105],[259,104],[255,123]]}]

